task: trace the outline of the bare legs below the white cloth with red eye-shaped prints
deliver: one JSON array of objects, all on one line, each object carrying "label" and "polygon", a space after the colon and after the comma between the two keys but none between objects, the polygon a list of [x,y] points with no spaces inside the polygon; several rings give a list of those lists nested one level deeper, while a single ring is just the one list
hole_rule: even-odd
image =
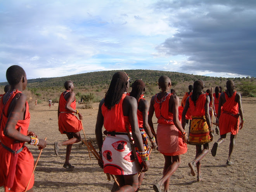
[{"label": "bare legs below the white cloth with red eye-shaped prints", "polygon": [[135,192],[138,189],[138,174],[116,175],[120,188],[117,192]]}]

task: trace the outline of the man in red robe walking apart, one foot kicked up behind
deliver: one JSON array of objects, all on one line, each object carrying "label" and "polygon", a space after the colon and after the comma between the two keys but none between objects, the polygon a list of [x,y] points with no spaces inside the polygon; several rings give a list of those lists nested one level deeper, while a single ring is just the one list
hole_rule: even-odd
[{"label": "man in red robe walking apart, one foot kicked up behind", "polygon": [[[63,167],[66,169],[74,169],[74,166],[69,163],[69,156],[72,145],[81,141],[79,131],[83,129],[82,122],[80,121],[83,119],[83,116],[76,110],[76,94],[73,92],[74,83],[72,81],[66,81],[64,87],[66,88],[66,91],[61,93],[59,99],[58,119],[59,131],[61,134],[66,134],[68,140],[64,142],[55,142],[54,150],[58,157],[59,148],[63,145],[67,145],[66,160]],[[80,120],[74,114],[78,114]]]}]

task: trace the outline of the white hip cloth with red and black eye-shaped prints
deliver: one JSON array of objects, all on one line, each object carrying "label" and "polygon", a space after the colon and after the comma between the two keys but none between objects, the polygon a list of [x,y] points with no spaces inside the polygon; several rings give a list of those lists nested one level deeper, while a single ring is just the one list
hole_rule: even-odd
[{"label": "white hip cloth with red and black eye-shaped prints", "polygon": [[140,171],[135,161],[128,135],[107,135],[102,145],[104,173],[112,175],[131,175]]}]

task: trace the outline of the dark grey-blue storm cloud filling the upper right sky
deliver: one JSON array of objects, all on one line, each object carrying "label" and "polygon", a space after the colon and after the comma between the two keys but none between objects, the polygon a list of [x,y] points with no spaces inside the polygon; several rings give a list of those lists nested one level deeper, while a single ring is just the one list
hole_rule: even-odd
[{"label": "dark grey-blue storm cloud filling the upper right sky", "polygon": [[256,76],[256,1],[161,1],[177,33],[157,46],[166,55],[185,55],[191,71]]}]

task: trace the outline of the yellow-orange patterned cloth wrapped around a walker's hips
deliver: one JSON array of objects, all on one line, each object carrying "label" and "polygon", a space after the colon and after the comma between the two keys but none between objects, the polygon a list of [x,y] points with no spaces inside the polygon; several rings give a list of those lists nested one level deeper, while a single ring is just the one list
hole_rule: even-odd
[{"label": "yellow-orange patterned cloth wrapped around a walker's hips", "polygon": [[211,137],[205,116],[192,116],[189,144],[203,145],[209,142],[211,142]]}]

